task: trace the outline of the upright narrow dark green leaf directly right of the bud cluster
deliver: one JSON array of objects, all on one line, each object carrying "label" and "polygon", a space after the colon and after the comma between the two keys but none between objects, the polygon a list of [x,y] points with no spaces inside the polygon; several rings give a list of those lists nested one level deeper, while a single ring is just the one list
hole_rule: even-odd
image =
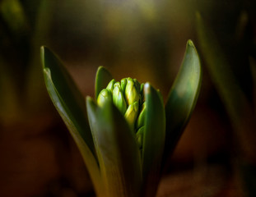
[{"label": "upright narrow dark green leaf directly right of the bud cluster", "polygon": [[165,107],[161,94],[150,84],[144,85],[146,100],[145,131],[142,148],[144,196],[156,196],[165,147]]}]

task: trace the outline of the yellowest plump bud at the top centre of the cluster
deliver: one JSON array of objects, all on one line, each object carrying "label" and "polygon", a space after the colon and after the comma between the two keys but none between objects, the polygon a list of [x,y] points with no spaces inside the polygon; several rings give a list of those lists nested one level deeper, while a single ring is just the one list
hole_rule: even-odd
[{"label": "yellowest plump bud at the top centre of the cluster", "polygon": [[125,98],[128,105],[131,105],[135,102],[139,102],[139,92],[137,92],[136,85],[132,78],[127,79],[127,85],[125,88]]}]

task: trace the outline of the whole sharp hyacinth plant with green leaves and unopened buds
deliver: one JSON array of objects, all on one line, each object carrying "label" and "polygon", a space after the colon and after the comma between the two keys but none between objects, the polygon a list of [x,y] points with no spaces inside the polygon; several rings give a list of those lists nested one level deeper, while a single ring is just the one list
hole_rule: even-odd
[{"label": "whole sharp hyacinth plant with green leaves and unopened buds", "polygon": [[164,105],[159,90],[100,66],[95,98],[81,94],[62,62],[41,48],[44,80],[81,152],[98,197],[156,196],[161,173],[198,99],[201,66],[188,41]]}]

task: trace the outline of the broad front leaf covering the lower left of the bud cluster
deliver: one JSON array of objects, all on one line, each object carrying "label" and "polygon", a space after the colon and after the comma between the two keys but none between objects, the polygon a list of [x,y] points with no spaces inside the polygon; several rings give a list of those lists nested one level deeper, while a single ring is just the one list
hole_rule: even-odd
[{"label": "broad front leaf covering the lower left of the bud cluster", "polygon": [[105,196],[141,196],[142,169],[133,131],[112,102],[98,107],[86,98],[86,104]]}]

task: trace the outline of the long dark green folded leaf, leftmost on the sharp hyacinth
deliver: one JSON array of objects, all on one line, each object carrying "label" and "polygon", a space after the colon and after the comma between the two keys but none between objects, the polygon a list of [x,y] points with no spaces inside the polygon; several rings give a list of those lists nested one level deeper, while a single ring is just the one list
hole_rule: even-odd
[{"label": "long dark green folded leaf, leftmost on the sharp hyacinth", "polygon": [[97,187],[100,184],[100,171],[86,120],[86,103],[58,57],[45,47],[41,48],[41,57],[49,96],[76,141],[91,179]]}]

